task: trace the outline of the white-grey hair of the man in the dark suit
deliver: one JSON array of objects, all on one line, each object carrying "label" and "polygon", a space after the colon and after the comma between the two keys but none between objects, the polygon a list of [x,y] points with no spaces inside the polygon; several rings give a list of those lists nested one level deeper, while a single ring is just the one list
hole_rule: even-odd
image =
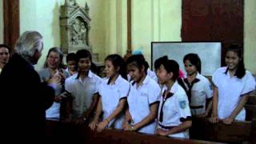
[{"label": "white-grey hair of the man in the dark suit", "polygon": [[30,61],[36,50],[42,51],[42,46],[42,35],[38,31],[26,31],[18,38],[15,50],[23,58]]}]

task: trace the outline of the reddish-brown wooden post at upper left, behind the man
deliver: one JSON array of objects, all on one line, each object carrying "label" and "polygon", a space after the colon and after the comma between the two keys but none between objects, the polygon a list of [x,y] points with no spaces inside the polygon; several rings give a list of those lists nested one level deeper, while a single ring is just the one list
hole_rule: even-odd
[{"label": "reddish-brown wooden post at upper left, behind the man", "polygon": [[14,49],[19,37],[19,0],[3,0],[4,43]]}]

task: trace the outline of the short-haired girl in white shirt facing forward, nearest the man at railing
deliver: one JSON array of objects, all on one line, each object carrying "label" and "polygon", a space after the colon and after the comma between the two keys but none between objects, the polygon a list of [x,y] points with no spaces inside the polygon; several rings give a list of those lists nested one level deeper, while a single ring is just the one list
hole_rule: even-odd
[{"label": "short-haired girl in white shirt facing forward, nearest the man at railing", "polygon": [[97,106],[98,86],[102,78],[90,70],[92,57],[89,50],[78,50],[75,57],[78,73],[67,78],[65,82],[65,90],[73,98],[67,121],[82,124],[90,120]]}]

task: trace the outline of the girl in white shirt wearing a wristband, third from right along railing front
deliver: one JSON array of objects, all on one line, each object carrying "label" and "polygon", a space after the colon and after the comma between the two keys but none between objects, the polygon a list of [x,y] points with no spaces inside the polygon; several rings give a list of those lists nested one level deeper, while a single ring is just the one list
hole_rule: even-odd
[{"label": "girl in white shirt wearing a wristband, third from right along railing front", "polygon": [[[99,95],[96,114],[90,129],[100,132],[106,127],[122,129],[124,114],[122,110],[126,103],[130,85],[126,81],[125,64],[122,57],[118,54],[110,54],[105,59],[106,78],[99,86]],[[102,122],[99,122],[99,116],[102,114]],[[99,122],[99,123],[98,123]]]}]

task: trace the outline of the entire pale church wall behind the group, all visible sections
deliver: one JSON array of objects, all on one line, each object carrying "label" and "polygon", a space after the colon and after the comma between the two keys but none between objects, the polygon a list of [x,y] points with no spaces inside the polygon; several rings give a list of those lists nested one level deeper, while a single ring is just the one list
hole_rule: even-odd
[{"label": "entire pale church wall behind the group, all visible sections", "polygon": [[[77,2],[79,6],[85,6],[87,2],[90,7],[92,19],[90,43],[93,52],[99,54],[100,61],[103,61],[107,54],[117,53],[122,56],[126,54],[127,1],[77,0]],[[59,6],[62,4],[64,0],[20,0],[21,33],[26,30],[38,30],[44,37],[45,49],[37,68],[42,67],[50,47],[60,46],[58,17]],[[256,74],[255,13],[256,1],[246,0],[244,59],[246,68],[254,74]],[[150,64],[151,42],[181,41],[182,0],[132,0],[131,21],[132,49],[142,48],[142,53]]]}]

